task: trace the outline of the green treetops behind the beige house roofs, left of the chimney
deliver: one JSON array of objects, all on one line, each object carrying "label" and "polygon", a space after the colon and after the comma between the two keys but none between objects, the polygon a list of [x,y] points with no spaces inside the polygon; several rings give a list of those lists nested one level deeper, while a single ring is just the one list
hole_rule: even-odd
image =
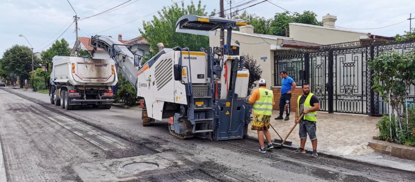
[{"label": "green treetops behind the beige house roofs, left of the chimney", "polygon": [[276,13],[272,18],[259,17],[244,11],[241,15],[235,15],[235,18],[246,20],[249,25],[254,27],[254,33],[278,36],[285,36],[285,27],[288,28],[289,23],[323,25],[323,22],[317,20],[317,14],[312,11],[304,11],[302,14],[298,12],[291,14],[286,11],[283,13]]}]

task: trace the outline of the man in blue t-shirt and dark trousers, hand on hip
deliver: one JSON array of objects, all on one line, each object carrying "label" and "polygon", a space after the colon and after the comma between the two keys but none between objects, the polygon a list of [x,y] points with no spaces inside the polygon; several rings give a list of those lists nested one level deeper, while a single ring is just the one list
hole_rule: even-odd
[{"label": "man in blue t-shirt and dark trousers, hand on hip", "polygon": [[275,119],[282,119],[282,115],[284,114],[284,106],[287,104],[287,113],[285,116],[285,121],[290,119],[290,100],[291,100],[291,93],[294,92],[296,89],[296,83],[294,80],[287,75],[287,71],[282,70],[280,72],[282,77],[282,86],[281,86],[281,97],[280,97],[280,116],[276,117]]}]

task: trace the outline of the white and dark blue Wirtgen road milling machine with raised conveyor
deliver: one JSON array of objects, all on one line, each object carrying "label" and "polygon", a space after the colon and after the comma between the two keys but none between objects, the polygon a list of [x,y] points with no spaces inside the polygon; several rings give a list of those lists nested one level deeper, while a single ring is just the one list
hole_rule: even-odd
[{"label": "white and dark blue Wirtgen road milling machine with raised conveyor", "polygon": [[168,130],[180,138],[211,140],[243,138],[250,122],[247,102],[249,70],[243,67],[238,45],[231,44],[232,29],[243,20],[185,15],[176,32],[213,35],[227,30],[226,48],[164,48],[145,64],[131,47],[108,36],[95,35],[91,44],[107,51],[119,71],[144,99],[142,120],[168,118]]}]

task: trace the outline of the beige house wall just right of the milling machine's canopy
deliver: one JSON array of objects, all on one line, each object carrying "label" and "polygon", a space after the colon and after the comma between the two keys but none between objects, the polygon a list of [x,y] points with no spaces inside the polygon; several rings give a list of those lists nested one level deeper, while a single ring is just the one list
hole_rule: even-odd
[{"label": "beige house wall just right of the milling machine's canopy", "polygon": [[[209,38],[210,47],[219,47],[219,34],[220,31],[216,32],[215,36]],[[264,37],[263,37],[264,38]],[[264,38],[269,44],[277,44],[277,40]],[[232,33],[232,43],[238,40],[240,42],[240,55],[249,54],[253,56],[262,68],[262,78],[266,80],[266,86],[269,88],[274,85],[274,50],[270,50],[270,45],[266,43],[261,37],[250,36],[245,34]],[[281,40],[278,40],[281,44]],[[225,31],[225,44],[226,44],[226,31]],[[264,62],[261,57],[267,57]]]}]

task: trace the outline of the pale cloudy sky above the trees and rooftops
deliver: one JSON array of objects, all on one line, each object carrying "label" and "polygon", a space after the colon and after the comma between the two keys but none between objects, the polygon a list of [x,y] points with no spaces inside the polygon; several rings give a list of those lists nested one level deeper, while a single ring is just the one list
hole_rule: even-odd
[{"label": "pale cloudy sky above the trees and rooftops", "polygon": [[[156,12],[164,6],[180,1],[0,0],[0,58],[6,49],[16,44],[33,47],[34,52],[41,52],[49,49],[56,39],[65,38],[72,48],[76,40],[75,23],[73,23],[75,12],[81,18],[78,23],[79,36],[91,37],[98,34],[116,38],[121,33],[123,40],[132,39],[140,35],[138,29],[143,27],[143,20],[149,21],[153,16],[157,17]],[[187,5],[191,0],[183,1]],[[248,1],[232,0],[232,6]],[[239,9],[262,1],[264,0],[256,0]],[[397,33],[403,34],[404,31],[409,31],[410,21],[407,19],[410,13],[413,13],[412,17],[415,17],[415,0],[268,1],[275,5],[265,1],[245,10],[250,14],[266,18],[273,17],[275,13],[284,12],[283,9],[299,13],[313,11],[317,14],[319,21],[323,16],[330,14],[337,16],[335,26],[382,36],[395,36]],[[118,6],[124,2],[127,3]],[[195,0],[196,4],[197,2]],[[201,0],[201,3],[206,5],[208,13],[219,9],[219,0]],[[90,17],[116,6],[119,9]],[[224,6],[225,9],[229,8],[229,0],[224,0]],[[412,24],[415,27],[415,19]],[[24,37],[18,36],[19,34]]]}]

